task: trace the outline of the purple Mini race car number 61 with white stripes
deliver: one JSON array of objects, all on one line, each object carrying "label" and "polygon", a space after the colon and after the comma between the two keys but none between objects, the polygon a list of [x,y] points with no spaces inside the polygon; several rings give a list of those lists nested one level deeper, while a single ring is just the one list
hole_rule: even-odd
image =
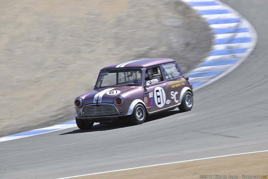
[{"label": "purple Mini race car number 61 with white stripes", "polygon": [[80,129],[120,120],[137,125],[147,115],[192,106],[192,85],[174,60],[143,59],[103,68],[94,90],[75,99],[75,116]]}]

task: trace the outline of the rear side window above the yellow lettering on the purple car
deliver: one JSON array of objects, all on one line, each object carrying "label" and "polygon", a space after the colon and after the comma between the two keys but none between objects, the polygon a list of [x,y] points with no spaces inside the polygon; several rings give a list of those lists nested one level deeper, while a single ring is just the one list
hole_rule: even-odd
[{"label": "rear side window above the yellow lettering on the purple car", "polygon": [[176,63],[164,64],[162,67],[166,79],[177,78],[183,75],[182,70],[177,67]]}]

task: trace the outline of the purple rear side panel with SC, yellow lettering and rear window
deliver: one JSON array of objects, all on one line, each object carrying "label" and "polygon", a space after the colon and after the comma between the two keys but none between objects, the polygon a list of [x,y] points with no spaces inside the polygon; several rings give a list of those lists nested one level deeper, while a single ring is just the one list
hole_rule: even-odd
[{"label": "purple rear side panel with SC, yellow lettering and rear window", "polygon": [[[162,65],[164,79],[166,80],[166,104],[170,106],[181,103],[180,94],[185,87],[186,79],[183,77],[183,72],[177,63],[168,63]],[[183,94],[182,94],[183,95]]]}]

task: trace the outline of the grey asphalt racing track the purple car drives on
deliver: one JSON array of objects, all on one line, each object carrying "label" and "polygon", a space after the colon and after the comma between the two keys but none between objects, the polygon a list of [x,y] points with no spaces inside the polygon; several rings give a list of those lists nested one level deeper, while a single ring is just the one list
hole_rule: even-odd
[{"label": "grey asphalt racing track the purple car drives on", "polygon": [[138,126],[74,127],[6,141],[0,177],[60,178],[267,150],[268,2],[222,2],[254,26],[258,42],[236,70],[195,92],[192,111],[176,109]]}]

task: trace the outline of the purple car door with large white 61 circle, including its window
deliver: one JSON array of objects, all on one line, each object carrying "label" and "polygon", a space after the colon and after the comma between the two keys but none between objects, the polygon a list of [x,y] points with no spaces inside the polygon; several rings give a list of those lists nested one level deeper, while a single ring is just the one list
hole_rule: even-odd
[{"label": "purple car door with large white 61 circle, including its window", "polygon": [[155,112],[166,108],[166,85],[160,66],[146,68],[144,83],[150,87],[145,88],[144,103],[148,112]]}]

